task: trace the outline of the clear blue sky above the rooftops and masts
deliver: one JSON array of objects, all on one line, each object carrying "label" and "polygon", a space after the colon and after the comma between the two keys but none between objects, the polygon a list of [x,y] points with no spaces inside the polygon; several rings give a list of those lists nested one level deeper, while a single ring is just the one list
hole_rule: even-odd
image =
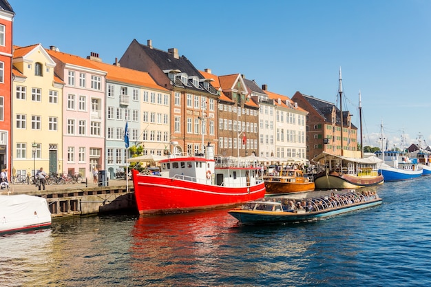
[{"label": "clear blue sky above the rooftops and masts", "polygon": [[199,70],[241,73],[271,92],[296,91],[337,100],[359,127],[364,145],[431,145],[431,1],[58,1],[10,0],[14,45],[55,45],[105,63],[136,39],[176,47]]}]

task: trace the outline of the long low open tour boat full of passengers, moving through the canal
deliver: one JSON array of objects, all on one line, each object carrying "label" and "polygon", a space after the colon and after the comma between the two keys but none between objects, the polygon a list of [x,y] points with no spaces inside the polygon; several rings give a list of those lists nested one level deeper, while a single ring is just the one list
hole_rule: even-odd
[{"label": "long low open tour boat full of passengers, moving through the canal", "polygon": [[[280,224],[317,220],[381,204],[376,193],[333,194],[322,198],[297,201],[288,198],[264,198],[247,202],[228,211],[241,224]],[[292,204],[293,203],[293,204]],[[304,204],[305,203],[305,204]]]}]

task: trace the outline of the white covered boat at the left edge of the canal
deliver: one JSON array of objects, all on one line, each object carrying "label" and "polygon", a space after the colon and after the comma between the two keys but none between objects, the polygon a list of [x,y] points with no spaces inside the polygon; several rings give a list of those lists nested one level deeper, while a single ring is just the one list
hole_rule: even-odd
[{"label": "white covered boat at the left edge of the canal", "polygon": [[51,226],[45,198],[32,195],[0,195],[0,233],[29,231]]}]

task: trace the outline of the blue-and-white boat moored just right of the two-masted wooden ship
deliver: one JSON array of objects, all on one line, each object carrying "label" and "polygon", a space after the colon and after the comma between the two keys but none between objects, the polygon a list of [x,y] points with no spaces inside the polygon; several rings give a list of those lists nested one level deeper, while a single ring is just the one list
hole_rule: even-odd
[{"label": "blue-and-white boat moored just right of the two-masted wooden ship", "polygon": [[[383,160],[380,171],[386,181],[411,180],[422,176],[423,169],[417,164],[416,158],[408,158],[403,151],[390,151],[388,144],[383,149],[383,123],[381,124],[381,150],[376,151],[377,158]],[[383,152],[382,152],[383,151]]]}]

